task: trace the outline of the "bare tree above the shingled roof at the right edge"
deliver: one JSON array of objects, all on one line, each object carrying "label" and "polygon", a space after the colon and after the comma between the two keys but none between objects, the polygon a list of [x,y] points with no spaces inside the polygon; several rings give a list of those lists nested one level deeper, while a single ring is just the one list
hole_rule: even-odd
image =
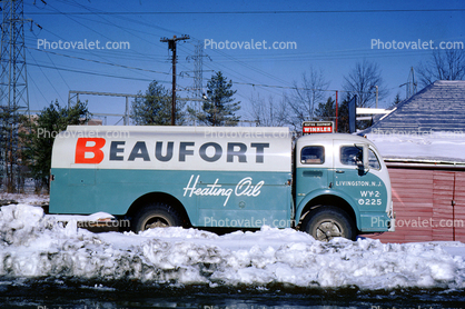
[{"label": "bare tree above the shingled roof at the right edge", "polygon": [[436,80],[465,79],[465,50],[434,50],[426,63],[417,67],[421,84],[428,86]]}]

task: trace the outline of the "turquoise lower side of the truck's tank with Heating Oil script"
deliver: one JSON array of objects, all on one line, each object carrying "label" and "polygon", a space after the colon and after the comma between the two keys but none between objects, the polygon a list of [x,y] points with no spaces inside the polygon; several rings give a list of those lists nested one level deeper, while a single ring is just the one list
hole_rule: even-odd
[{"label": "turquoise lower side of the truck's tank with Heating Oil script", "polygon": [[267,225],[290,218],[290,186],[287,183],[290,173],[287,172],[255,172],[253,178],[244,171],[204,170],[52,169],[51,172],[55,177],[51,190],[60,192],[50,197],[50,212],[55,213],[125,215],[139,197],[164,192],[185,206],[196,227],[211,226],[215,220],[230,222],[231,218],[241,220],[234,225],[249,225],[246,220],[260,219]]}]

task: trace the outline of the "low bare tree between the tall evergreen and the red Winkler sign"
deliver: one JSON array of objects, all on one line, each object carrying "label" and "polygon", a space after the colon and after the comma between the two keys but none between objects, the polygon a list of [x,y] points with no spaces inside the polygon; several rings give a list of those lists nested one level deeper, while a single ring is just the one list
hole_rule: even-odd
[{"label": "low bare tree between the tall evergreen and the red Winkler sign", "polygon": [[284,100],[276,101],[271,96],[265,100],[253,94],[249,114],[259,127],[283,127],[287,123],[288,108]]}]

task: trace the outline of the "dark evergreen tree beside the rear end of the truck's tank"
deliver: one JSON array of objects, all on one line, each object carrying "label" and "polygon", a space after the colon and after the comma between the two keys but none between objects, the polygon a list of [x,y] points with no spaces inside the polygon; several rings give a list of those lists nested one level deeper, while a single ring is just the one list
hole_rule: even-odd
[{"label": "dark evergreen tree beside the rear end of the truck's tank", "polygon": [[68,124],[81,124],[87,122],[89,111],[87,102],[78,102],[71,108],[62,108],[57,102],[44,108],[36,120],[27,120],[24,127],[30,131],[22,132],[20,138],[26,146],[23,160],[30,168],[31,177],[41,186],[49,188],[49,175],[51,167],[51,150],[56,136],[65,131]]}]

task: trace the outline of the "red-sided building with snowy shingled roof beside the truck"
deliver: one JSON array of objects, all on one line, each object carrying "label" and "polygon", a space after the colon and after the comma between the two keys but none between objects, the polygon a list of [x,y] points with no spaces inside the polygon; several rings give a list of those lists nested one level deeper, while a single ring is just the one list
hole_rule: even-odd
[{"label": "red-sided building with snowy shingled roof beside the truck", "polygon": [[396,231],[383,242],[465,242],[465,81],[436,81],[364,131],[384,156]]}]

